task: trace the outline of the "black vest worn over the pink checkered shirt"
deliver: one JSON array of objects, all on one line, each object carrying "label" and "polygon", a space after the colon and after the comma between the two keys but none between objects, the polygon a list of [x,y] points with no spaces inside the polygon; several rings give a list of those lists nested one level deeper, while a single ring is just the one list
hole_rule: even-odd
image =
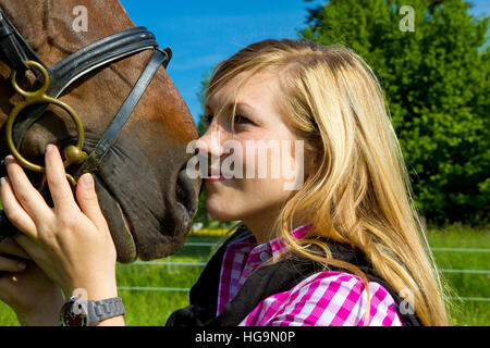
[{"label": "black vest worn over the pink checkered shirt", "polygon": [[[218,249],[204,269],[197,283],[191,288],[191,306],[174,311],[167,321],[168,326],[236,326],[261,300],[269,296],[287,291],[308,276],[323,271],[319,263],[296,257],[260,266],[250,274],[233,300],[217,316],[218,286],[224,251],[230,243],[244,237],[246,234],[249,234],[246,227],[238,227]],[[329,241],[328,245],[333,259],[358,266],[366,274],[369,282],[382,285],[393,297],[397,308],[400,308],[403,298],[387,282],[377,276],[359,250],[352,249],[350,246],[340,243]],[[334,266],[329,266],[329,270],[345,272],[345,270]],[[406,306],[409,304],[405,301],[403,306],[406,309]],[[411,309],[405,312],[414,313]],[[399,309],[397,312],[406,326],[420,326],[420,321],[416,314],[402,314]]]}]

